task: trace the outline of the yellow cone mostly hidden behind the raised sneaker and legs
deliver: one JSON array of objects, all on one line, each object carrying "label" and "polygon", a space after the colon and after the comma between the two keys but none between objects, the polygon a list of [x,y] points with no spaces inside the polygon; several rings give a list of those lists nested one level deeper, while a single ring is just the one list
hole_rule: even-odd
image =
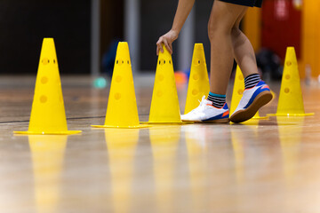
[{"label": "yellow cone mostly hidden behind the raised sneaker and legs", "polygon": [[[240,103],[241,98],[244,94],[244,75],[241,72],[239,66],[236,67],[236,76],[234,89],[232,93],[230,114],[233,114],[236,110],[236,106]],[[259,111],[252,117],[252,119],[268,119],[268,117],[260,117]]]}]

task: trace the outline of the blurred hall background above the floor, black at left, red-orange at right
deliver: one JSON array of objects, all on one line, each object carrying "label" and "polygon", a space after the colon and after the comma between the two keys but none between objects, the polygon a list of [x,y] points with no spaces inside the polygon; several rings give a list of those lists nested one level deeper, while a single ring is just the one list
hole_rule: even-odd
[{"label": "blurred hall background above the floor, black at left, red-orange at right", "polygon": [[[111,75],[119,41],[129,43],[133,73],[154,73],[156,41],[172,26],[178,0],[1,0],[0,74],[36,75],[41,43],[53,37],[62,75]],[[204,43],[212,0],[196,1],[173,43],[174,69],[188,73],[194,43]],[[260,71],[280,79],[285,50],[294,46],[301,78],[320,75],[320,1],[264,0],[241,28],[252,41]],[[208,67],[209,69],[209,67]]]}]

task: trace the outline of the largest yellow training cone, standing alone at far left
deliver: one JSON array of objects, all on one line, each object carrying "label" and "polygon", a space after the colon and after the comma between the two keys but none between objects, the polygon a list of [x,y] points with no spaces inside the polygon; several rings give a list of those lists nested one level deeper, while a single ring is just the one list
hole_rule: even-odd
[{"label": "largest yellow training cone, standing alone at far left", "polygon": [[68,130],[54,41],[53,38],[44,38],[28,131],[14,133],[69,135],[80,132]]}]

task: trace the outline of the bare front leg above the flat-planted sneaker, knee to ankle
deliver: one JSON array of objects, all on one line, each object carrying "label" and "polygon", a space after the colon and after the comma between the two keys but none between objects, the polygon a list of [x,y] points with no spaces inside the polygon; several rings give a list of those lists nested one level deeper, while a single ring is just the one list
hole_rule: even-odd
[{"label": "bare front leg above the flat-planted sneaker, knee to ankle", "polygon": [[208,36],[211,43],[210,91],[226,94],[232,71],[234,45],[232,29],[247,7],[214,1],[208,23]]}]

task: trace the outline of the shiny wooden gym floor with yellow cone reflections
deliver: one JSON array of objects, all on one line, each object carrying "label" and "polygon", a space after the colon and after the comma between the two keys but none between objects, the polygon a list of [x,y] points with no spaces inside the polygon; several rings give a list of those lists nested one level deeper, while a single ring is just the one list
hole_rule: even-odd
[{"label": "shiny wooden gym floor with yellow cone reflections", "polygon": [[[134,79],[148,121],[154,76]],[[103,130],[90,125],[103,124],[108,89],[87,76],[61,81],[68,129],[83,133],[15,136],[28,130],[36,77],[1,76],[0,212],[320,212],[318,85],[302,83],[315,116]],[[186,91],[178,86],[181,111]]]}]

